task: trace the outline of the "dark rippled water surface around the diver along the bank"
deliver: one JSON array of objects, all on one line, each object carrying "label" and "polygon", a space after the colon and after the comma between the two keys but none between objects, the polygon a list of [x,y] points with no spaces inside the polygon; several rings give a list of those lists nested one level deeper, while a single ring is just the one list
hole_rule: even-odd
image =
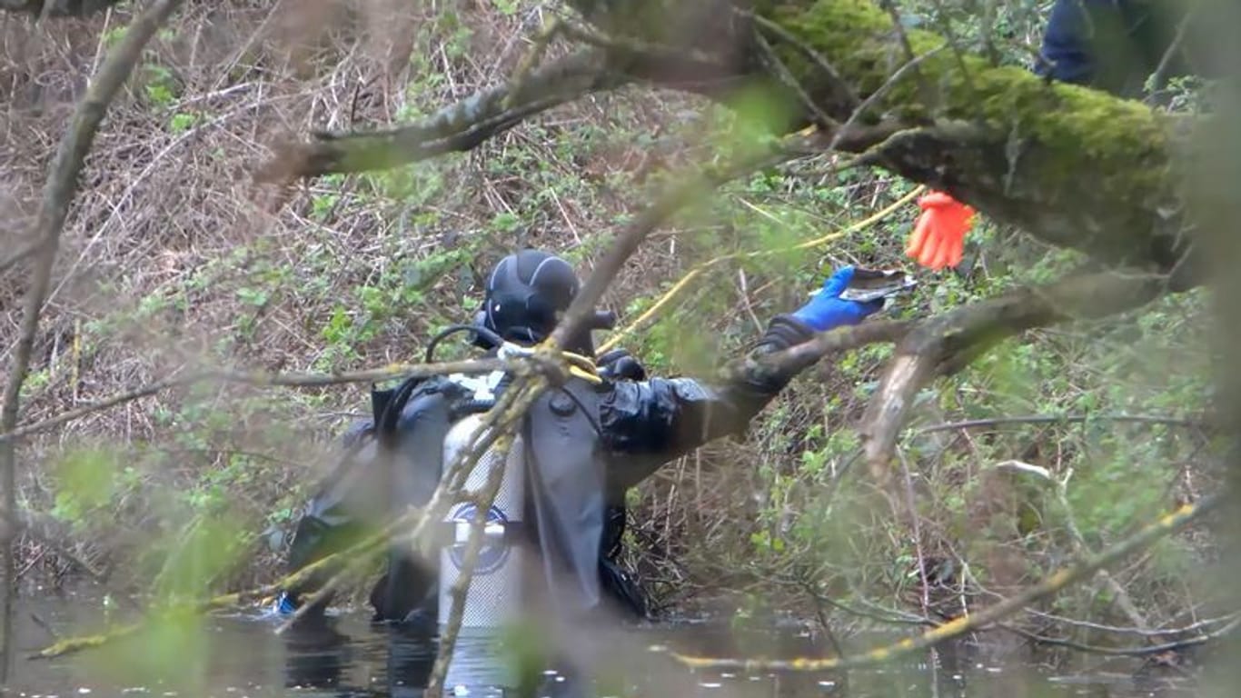
[{"label": "dark rippled water surface around the diver along the bank", "polygon": [[[115,606],[115,605],[113,605]],[[433,640],[374,626],[364,612],[341,612],[328,627],[277,636],[277,622],[259,610],[168,623],[122,641],[57,659],[31,659],[55,637],[93,632],[133,616],[105,610],[94,594],[36,596],[20,602],[16,638],[21,656],[7,696],[71,698],[104,696],[220,697],[375,696],[421,697],[434,658]],[[494,638],[464,636],[450,671],[448,696],[519,696],[505,657],[541,646],[537,632]],[[854,638],[855,648],[879,640]],[[764,697],[1049,697],[1136,698],[1193,696],[1183,681],[1136,681],[1129,673],[1052,676],[1021,652],[958,645],[903,666],[820,673],[690,672],[652,647],[725,656],[824,655],[805,630],[737,632],[722,623],[679,622],[591,632],[575,645],[602,657],[597,683],[580,684],[553,669],[536,671],[532,696]],[[983,659],[983,657],[990,657]],[[1132,667],[1131,667],[1132,668]],[[585,688],[583,688],[585,687]]]}]

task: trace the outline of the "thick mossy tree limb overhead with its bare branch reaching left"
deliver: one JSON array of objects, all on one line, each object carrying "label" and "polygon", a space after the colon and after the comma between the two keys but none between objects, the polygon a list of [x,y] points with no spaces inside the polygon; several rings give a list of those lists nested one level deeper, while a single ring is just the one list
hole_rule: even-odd
[{"label": "thick mossy tree limb overhead with its bare branch reaching left", "polygon": [[[287,144],[259,179],[383,169],[467,150],[552,106],[633,81],[722,101],[732,87],[758,81],[784,101],[773,109],[776,130],[823,116],[902,123],[908,130],[870,153],[871,164],[947,190],[1046,242],[1163,272],[1186,255],[1183,233],[1193,221],[1180,200],[1185,163],[1175,135],[1186,122],[1139,102],[944,51],[949,39],[896,31],[872,0],[576,5],[594,31],[567,35],[593,47],[536,68],[520,94],[500,86],[418,124]],[[767,52],[777,60],[761,60]],[[911,55],[916,70],[902,72]],[[787,75],[769,75],[772,66]],[[784,84],[789,77],[797,89]],[[858,114],[859,101],[866,114]],[[1198,282],[1193,268],[1179,271],[1189,273],[1178,284]]]}]

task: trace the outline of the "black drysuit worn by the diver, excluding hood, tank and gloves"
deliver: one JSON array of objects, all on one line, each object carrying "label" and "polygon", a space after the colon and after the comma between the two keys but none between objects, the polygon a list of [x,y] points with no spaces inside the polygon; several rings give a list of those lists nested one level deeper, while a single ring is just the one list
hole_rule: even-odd
[{"label": "black drysuit worn by the diver, excluding hood, tank and gloves", "polygon": [[[755,359],[812,335],[799,320],[779,315],[719,381],[653,378],[597,386],[571,379],[530,407],[521,426],[527,450],[525,535],[544,560],[544,581],[556,586],[551,597],[557,604],[587,612],[612,606],[645,614],[635,585],[616,564],[625,491],[668,461],[714,438],[742,432],[807,365],[771,368]],[[469,400],[454,395],[459,389],[447,380],[432,379],[413,390],[395,420],[387,446],[392,457],[376,457],[379,441],[365,437],[375,421],[346,435],[354,456],[343,460],[307,507],[294,534],[293,569],[350,544],[392,512],[429,501],[444,467],[433,462],[433,455],[442,452],[443,435],[453,419],[443,405]],[[379,395],[376,402],[390,397]],[[375,619],[433,619],[436,564],[407,554],[390,556],[388,571],[371,594]],[[299,594],[321,581],[323,575],[288,591],[297,602]]]}]

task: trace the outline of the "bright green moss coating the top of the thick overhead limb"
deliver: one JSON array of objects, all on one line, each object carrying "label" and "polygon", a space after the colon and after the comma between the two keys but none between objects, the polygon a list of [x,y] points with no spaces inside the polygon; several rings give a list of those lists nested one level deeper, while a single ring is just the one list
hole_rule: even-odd
[{"label": "bright green moss coating the top of the thick overhead limb", "polygon": [[[870,0],[819,0],[805,5],[771,5],[767,16],[819,51],[865,97],[905,62],[891,17]],[[944,45],[927,31],[906,34],[915,53]],[[813,87],[822,71],[792,46],[781,47],[789,70]],[[964,67],[963,75],[962,67]],[[819,81],[819,84],[815,83]],[[1076,186],[1083,171],[1107,173],[1097,185],[1111,196],[1140,201],[1154,196],[1168,171],[1163,118],[1138,102],[1071,84],[1047,84],[1014,66],[992,67],[982,57],[951,50],[930,56],[898,84],[891,86],[871,119],[880,114],[917,122],[927,117],[963,119],[1014,132],[1037,143],[1049,163],[1040,176],[1052,186]],[[1076,175],[1076,176],[1075,176]]]}]

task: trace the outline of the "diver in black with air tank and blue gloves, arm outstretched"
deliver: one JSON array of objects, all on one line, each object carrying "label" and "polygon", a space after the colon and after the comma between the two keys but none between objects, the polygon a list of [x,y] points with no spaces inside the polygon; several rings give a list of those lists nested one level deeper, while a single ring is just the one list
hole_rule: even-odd
[{"label": "diver in black with air tank and blue gloves, arm outstretched", "polygon": [[[505,460],[500,494],[488,512],[485,543],[465,596],[463,627],[498,627],[519,612],[648,617],[644,595],[618,563],[625,491],[661,465],[711,440],[742,432],[813,363],[761,365],[756,359],[807,342],[818,332],[858,324],[880,310],[882,298],[840,298],[853,273],[853,267],[838,270],[804,306],[773,318],[736,368],[722,374],[727,378],[715,383],[648,378],[637,359],[611,351],[599,358],[597,375],[571,375],[537,397],[509,452],[485,453],[467,483],[467,489],[478,487],[485,481],[485,465]],[[494,267],[474,322],[448,332],[468,333],[491,356],[520,353],[549,337],[578,289],[568,262],[545,251],[521,250]],[[597,312],[594,318],[567,343],[567,351],[594,356],[591,333],[611,324],[606,313]],[[428,360],[443,335],[428,344]],[[453,455],[510,380],[509,374],[494,371],[372,389],[372,419],[345,435],[345,457],[297,524],[289,568],[345,548],[395,514],[426,504]],[[463,524],[474,519],[474,512],[469,501],[450,508],[434,534],[438,555],[419,555],[419,548],[408,542],[392,545],[387,570],[370,595],[374,621],[443,627],[469,529]],[[328,574],[282,592],[278,611],[292,614]],[[321,620],[330,601],[328,595],[309,609],[305,620]]]}]

